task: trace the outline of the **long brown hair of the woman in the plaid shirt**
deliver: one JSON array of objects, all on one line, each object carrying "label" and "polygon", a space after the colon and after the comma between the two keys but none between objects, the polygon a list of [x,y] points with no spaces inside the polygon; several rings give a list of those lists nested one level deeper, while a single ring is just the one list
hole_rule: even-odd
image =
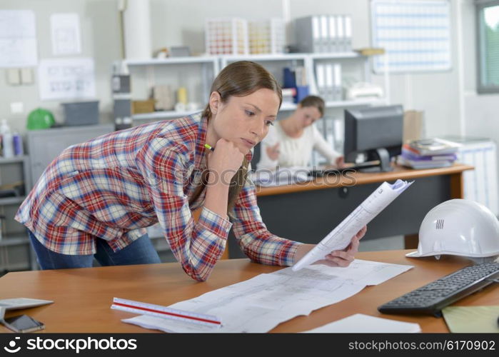
[{"label": "long brown hair of the woman in the plaid shirt", "polygon": [[[274,91],[279,97],[279,108],[281,108],[283,94],[281,86],[279,86],[274,76],[260,64],[252,61],[238,61],[226,66],[216,76],[211,85],[210,94],[214,91],[218,92],[222,103],[227,103],[231,96],[248,96],[258,91],[258,89],[271,89],[271,91]],[[210,104],[208,103],[203,111],[203,117],[210,121],[212,116]],[[245,156],[243,164],[231,179],[231,186],[228,190],[228,215],[230,215],[230,211],[236,204],[239,193],[241,193],[241,189],[246,183],[248,165],[249,162]],[[203,186],[198,186],[192,201],[196,200],[201,191],[203,191]]]}]

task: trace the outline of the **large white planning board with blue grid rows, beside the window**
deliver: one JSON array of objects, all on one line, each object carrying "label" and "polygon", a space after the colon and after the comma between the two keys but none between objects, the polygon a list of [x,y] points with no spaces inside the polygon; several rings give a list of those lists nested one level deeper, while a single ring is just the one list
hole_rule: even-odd
[{"label": "large white planning board with blue grid rows, beside the window", "polygon": [[448,0],[372,0],[371,26],[373,47],[385,49],[376,74],[450,70]]}]

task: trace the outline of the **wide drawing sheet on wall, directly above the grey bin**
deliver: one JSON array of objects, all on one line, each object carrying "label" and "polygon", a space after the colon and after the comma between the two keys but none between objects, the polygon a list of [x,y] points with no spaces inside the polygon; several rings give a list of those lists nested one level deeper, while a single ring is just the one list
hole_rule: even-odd
[{"label": "wide drawing sheet on wall, directly above the grey bin", "polygon": [[94,59],[42,59],[38,78],[42,101],[95,97]]}]

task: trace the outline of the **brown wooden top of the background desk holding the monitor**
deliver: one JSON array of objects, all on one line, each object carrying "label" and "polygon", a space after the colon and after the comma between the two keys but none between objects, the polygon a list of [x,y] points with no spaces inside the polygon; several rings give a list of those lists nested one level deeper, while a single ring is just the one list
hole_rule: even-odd
[{"label": "brown wooden top of the background desk holding the monitor", "polygon": [[326,176],[318,177],[312,181],[305,183],[295,183],[293,185],[273,186],[273,187],[258,187],[257,196],[278,195],[283,193],[292,193],[308,190],[318,190],[328,187],[341,187],[364,185],[367,183],[376,183],[383,181],[396,181],[399,178],[403,180],[410,180],[414,178],[423,178],[428,176],[437,175],[453,175],[461,174],[466,170],[473,170],[473,166],[454,164],[450,167],[442,169],[422,169],[414,170],[408,169],[403,166],[393,166],[393,171],[390,172],[376,172],[376,173],[363,173],[363,172],[347,172],[341,176]]}]

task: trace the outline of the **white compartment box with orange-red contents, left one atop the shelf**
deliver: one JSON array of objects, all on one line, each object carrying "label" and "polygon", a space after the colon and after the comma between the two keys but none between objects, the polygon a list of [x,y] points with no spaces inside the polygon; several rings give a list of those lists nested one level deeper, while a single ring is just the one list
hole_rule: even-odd
[{"label": "white compartment box with orange-red contents, left one atop the shelf", "polygon": [[248,54],[248,21],[239,18],[206,19],[208,54]]}]

